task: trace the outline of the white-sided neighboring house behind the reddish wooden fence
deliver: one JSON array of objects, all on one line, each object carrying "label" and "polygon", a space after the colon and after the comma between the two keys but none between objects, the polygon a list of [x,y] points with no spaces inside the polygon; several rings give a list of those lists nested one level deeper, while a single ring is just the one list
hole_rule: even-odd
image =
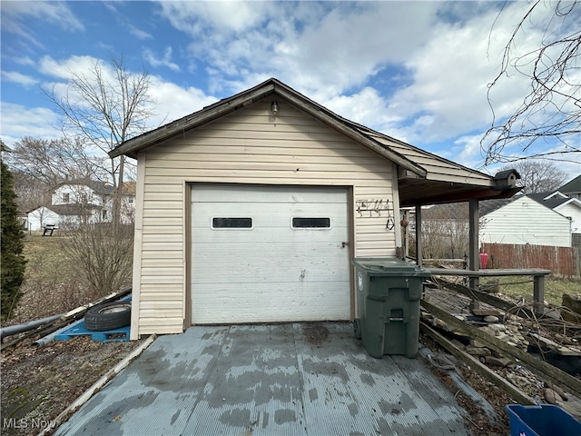
[{"label": "white-sided neighboring house behind the reddish wooden fence", "polygon": [[581,202],[556,193],[534,193],[483,202],[480,242],[571,246]]}]

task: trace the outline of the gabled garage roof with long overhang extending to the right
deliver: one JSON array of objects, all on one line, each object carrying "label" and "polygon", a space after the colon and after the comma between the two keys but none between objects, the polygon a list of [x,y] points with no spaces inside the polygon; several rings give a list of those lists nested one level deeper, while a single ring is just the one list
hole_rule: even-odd
[{"label": "gabled garage roof with long overhang extending to the right", "polygon": [[310,114],[320,123],[361,144],[399,168],[399,201],[402,206],[432,203],[456,203],[469,199],[506,198],[519,188],[502,186],[486,173],[479,173],[436,154],[430,154],[368,127],[353,123],[310,100],[279,80],[271,78],[251,89],[204,107],[170,124],[135,136],[115,147],[109,155],[125,154],[137,158],[144,149],[182,134],[185,130],[207,124],[267,96],[279,97]]}]

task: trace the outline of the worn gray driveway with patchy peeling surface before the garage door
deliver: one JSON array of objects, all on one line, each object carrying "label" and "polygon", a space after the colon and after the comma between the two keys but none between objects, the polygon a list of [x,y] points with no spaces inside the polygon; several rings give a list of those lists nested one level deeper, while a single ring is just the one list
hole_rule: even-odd
[{"label": "worn gray driveway with patchy peeling surface before the garage door", "polygon": [[159,337],[57,435],[465,435],[422,359],[369,356],[348,322]]}]

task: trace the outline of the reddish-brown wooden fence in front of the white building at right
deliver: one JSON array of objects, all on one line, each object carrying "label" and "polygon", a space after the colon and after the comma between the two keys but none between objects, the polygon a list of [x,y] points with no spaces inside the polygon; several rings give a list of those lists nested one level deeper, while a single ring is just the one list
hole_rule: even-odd
[{"label": "reddish-brown wooden fence in front of the white building at right", "polygon": [[565,277],[581,277],[581,238],[574,246],[483,243],[487,268],[543,268]]}]

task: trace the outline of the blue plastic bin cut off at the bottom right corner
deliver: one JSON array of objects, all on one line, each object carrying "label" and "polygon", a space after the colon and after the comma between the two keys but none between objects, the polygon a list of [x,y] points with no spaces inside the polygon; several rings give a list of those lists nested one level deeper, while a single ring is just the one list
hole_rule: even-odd
[{"label": "blue plastic bin cut off at the bottom right corner", "polygon": [[581,422],[552,404],[507,404],[510,436],[581,436]]}]

